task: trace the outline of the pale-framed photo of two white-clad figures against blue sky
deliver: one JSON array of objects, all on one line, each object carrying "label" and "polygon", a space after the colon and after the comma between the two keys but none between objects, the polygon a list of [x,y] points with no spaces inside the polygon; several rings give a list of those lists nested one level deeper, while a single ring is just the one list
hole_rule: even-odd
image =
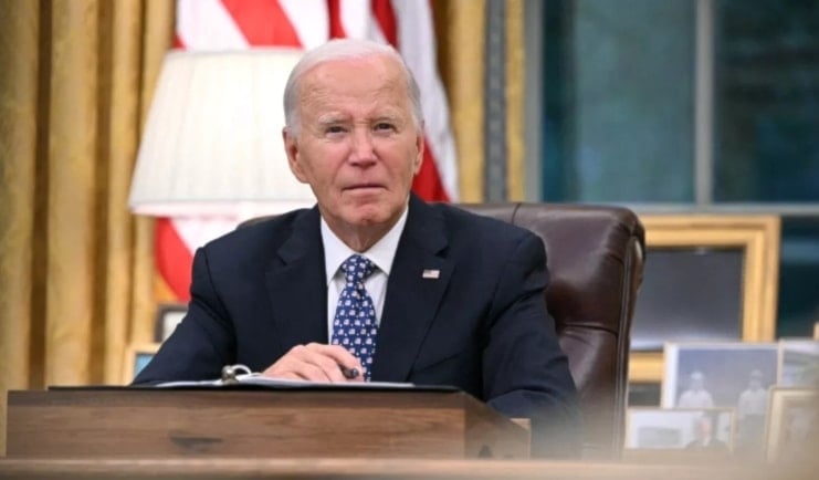
[{"label": "pale-framed photo of two white-clad figures against blue sky", "polygon": [[669,343],[661,405],[736,408],[734,451],[763,453],[768,388],[778,378],[776,343]]}]

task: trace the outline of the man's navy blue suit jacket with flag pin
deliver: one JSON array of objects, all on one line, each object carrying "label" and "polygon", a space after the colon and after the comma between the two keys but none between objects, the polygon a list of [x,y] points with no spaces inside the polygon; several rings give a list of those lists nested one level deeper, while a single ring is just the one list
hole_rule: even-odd
[{"label": "man's navy blue suit jacket with flag pin", "polygon": [[[372,380],[460,387],[532,418],[534,450],[574,451],[579,413],[546,311],[545,257],[528,230],[411,196]],[[187,316],[135,384],[218,378],[235,363],[263,371],[295,345],[328,343],[326,289],[316,208],[217,239],[196,253]]]}]

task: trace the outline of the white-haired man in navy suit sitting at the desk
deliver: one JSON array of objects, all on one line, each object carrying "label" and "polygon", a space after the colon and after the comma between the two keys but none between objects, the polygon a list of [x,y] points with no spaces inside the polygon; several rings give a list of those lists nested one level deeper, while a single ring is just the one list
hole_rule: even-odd
[{"label": "white-haired man in navy suit sitting at the desk", "polygon": [[398,53],[332,41],[305,54],[284,96],[290,167],[316,207],[199,249],[188,314],[135,383],[241,363],[276,378],[452,385],[532,418],[536,453],[575,452],[543,243],[410,194],[423,118]]}]

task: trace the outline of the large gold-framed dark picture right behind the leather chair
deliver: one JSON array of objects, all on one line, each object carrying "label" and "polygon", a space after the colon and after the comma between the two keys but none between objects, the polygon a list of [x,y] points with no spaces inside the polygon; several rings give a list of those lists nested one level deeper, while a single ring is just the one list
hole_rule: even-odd
[{"label": "large gold-framed dark picture right behind the leather chair", "polygon": [[665,342],[770,342],[780,220],[770,215],[641,215],[647,258],[629,379],[662,379]]}]

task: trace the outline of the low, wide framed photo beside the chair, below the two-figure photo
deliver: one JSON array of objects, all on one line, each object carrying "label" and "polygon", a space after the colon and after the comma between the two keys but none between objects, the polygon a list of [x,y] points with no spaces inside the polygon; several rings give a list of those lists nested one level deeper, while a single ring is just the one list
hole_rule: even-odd
[{"label": "low, wide framed photo beside the chair, below the two-figure photo", "polygon": [[729,453],[734,444],[732,408],[629,408],[626,448]]}]

